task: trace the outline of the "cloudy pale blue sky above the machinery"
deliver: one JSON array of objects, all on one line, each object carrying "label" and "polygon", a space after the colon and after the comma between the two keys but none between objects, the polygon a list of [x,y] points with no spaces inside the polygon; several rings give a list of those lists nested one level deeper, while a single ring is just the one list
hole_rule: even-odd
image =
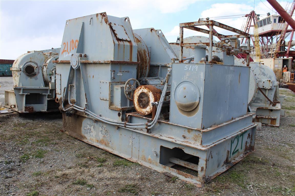
[{"label": "cloudy pale blue sky above the machinery", "polygon": [[[278,1],[283,8],[292,1]],[[248,14],[255,10],[262,17],[275,10],[266,0],[235,1],[4,1],[0,0],[0,59],[15,59],[32,50],[58,48],[65,21],[106,12],[128,16],[133,29],[161,29],[168,42],[176,42],[179,23]],[[260,17],[260,19],[262,18]],[[246,17],[214,19],[241,29]],[[223,33],[223,32],[222,32]],[[196,35],[185,31],[184,36]]]}]

